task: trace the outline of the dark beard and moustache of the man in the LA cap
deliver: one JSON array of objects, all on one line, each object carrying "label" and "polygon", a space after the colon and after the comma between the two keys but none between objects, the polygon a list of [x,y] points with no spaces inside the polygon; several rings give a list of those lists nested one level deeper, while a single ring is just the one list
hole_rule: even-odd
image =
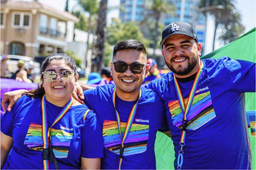
[{"label": "dark beard and moustache of the man in the LA cap", "polygon": [[174,74],[177,74],[177,75],[180,75],[180,76],[184,76],[184,75],[187,75],[189,74],[194,68],[195,66],[197,65],[198,61],[199,61],[199,57],[188,57],[186,55],[181,55],[180,57],[184,57],[184,58],[187,58],[188,59],[188,66],[187,67],[184,67],[182,68],[181,65],[178,65],[178,67],[175,69],[173,66],[172,66],[172,61],[175,59],[175,58],[178,58],[178,57],[174,57],[173,59],[170,60],[170,64],[168,64],[165,60],[165,64],[167,65],[167,67],[174,73]]}]

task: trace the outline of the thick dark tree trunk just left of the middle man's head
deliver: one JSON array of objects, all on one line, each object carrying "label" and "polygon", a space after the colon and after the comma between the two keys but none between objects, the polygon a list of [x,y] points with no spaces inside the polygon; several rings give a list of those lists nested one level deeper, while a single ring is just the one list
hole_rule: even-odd
[{"label": "thick dark tree trunk just left of the middle man's head", "polygon": [[106,41],[106,16],[108,0],[101,0],[99,4],[99,13],[97,20],[97,41],[95,45],[95,56],[92,60],[91,72],[100,72],[104,66],[105,41]]}]

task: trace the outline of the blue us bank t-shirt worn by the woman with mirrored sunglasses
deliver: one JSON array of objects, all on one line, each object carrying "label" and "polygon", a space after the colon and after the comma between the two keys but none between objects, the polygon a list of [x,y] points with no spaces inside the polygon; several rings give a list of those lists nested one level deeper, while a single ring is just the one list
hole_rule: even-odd
[{"label": "blue us bank t-shirt worn by the woman with mirrored sunglasses", "polygon": [[[3,169],[43,169],[41,98],[22,96],[11,112],[1,117],[1,132],[11,136],[13,147]],[[46,100],[48,127],[63,107]],[[80,169],[81,157],[103,157],[101,125],[93,111],[84,120],[86,105],[72,106],[50,131],[60,169]],[[49,163],[50,169],[55,169]]]}]

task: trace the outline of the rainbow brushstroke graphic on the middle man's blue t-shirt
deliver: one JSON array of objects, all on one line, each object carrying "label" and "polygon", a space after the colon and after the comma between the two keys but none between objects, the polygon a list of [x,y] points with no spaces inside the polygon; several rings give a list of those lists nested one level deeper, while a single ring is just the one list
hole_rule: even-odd
[{"label": "rainbow brushstroke graphic on the middle man's blue t-shirt", "polygon": [[[121,132],[124,135],[126,122],[121,122]],[[147,150],[149,125],[132,124],[131,130],[124,142],[124,156],[145,152]],[[102,130],[104,147],[119,155],[120,134],[118,132],[117,121],[104,120]]]}]

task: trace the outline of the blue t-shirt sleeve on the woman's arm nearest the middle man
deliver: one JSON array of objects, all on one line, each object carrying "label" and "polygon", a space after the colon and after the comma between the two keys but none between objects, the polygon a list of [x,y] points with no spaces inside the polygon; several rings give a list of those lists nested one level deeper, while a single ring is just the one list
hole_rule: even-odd
[{"label": "blue t-shirt sleeve on the woman's arm nearest the middle man", "polygon": [[82,157],[103,158],[103,138],[99,119],[94,111],[89,111],[82,131]]}]

